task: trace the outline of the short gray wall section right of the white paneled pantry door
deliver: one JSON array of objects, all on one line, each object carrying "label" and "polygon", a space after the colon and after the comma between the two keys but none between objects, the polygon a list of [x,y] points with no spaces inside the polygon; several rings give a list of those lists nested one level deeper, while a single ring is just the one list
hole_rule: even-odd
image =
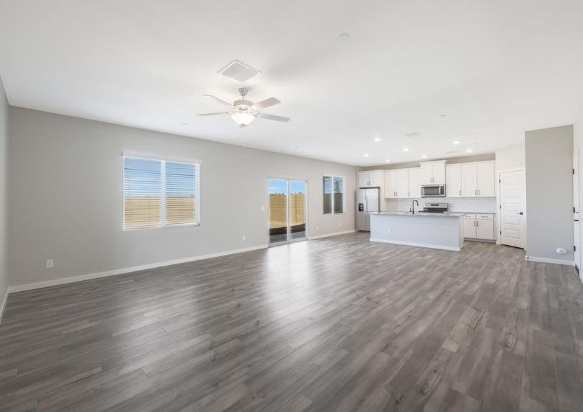
[{"label": "short gray wall section right of the white paneled pantry door", "polygon": [[527,255],[573,262],[573,126],[526,132],[525,161]]}]

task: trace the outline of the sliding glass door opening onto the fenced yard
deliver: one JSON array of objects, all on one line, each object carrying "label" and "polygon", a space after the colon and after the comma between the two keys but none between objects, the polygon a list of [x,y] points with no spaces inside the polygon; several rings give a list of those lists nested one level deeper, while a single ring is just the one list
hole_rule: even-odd
[{"label": "sliding glass door opening onto the fenced yard", "polygon": [[307,238],[308,183],[269,179],[269,244]]}]

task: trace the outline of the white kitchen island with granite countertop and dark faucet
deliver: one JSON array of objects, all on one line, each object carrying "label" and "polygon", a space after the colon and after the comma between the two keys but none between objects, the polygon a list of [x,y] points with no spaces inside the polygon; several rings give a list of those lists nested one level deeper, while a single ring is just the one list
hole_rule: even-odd
[{"label": "white kitchen island with granite countertop and dark faucet", "polygon": [[380,211],[370,215],[371,242],[458,252],[464,247],[463,214]]}]

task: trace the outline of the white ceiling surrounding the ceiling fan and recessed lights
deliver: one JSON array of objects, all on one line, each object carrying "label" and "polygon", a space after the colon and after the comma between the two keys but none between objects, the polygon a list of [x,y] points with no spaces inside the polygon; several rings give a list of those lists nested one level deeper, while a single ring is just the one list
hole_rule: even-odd
[{"label": "white ceiling surrounding the ceiling fan and recessed lights", "polygon": [[[14,106],[353,165],[493,152],[573,123],[583,104],[580,0],[0,0],[0,10]],[[336,41],[343,32],[350,40]],[[192,117],[222,111],[203,93],[235,100],[242,84],[216,73],[234,58],[263,72],[245,84],[249,100],[279,98],[264,112],[290,122]]]}]

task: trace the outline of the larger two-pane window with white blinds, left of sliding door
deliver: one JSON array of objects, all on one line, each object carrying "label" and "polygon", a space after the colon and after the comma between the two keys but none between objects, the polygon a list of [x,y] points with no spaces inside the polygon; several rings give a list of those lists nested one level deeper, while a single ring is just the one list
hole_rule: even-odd
[{"label": "larger two-pane window with white blinds, left of sliding door", "polygon": [[124,156],[124,229],[198,225],[194,161]]}]

